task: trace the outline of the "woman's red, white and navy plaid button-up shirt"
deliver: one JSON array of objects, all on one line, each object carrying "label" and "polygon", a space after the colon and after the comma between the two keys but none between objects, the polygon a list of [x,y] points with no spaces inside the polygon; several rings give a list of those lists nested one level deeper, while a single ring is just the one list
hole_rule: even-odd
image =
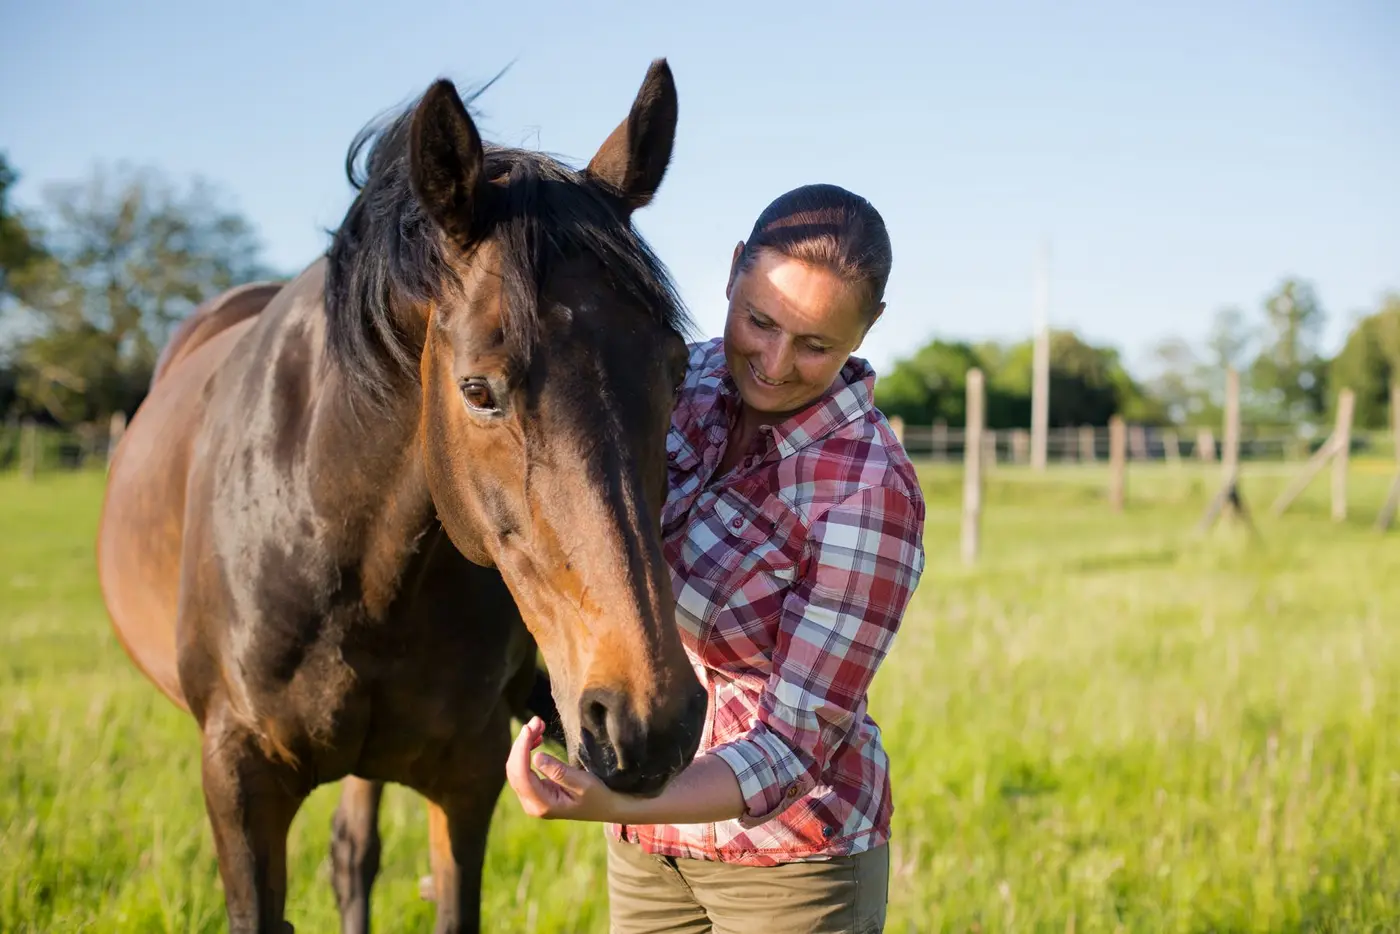
[{"label": "woman's red, white and navy plaid button-up shirt", "polygon": [[710,692],[700,752],[734,769],[745,811],[609,825],[615,839],[749,865],[889,839],[889,759],[865,692],[923,573],[924,500],[874,385],[851,357],[827,393],[717,478],[739,396],[722,340],[692,347],[662,532],[676,623]]}]

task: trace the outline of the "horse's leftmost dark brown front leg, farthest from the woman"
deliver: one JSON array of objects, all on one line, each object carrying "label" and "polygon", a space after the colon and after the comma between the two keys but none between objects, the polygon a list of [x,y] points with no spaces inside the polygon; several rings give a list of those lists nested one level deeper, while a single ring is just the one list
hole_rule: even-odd
[{"label": "horse's leftmost dark brown front leg, farthest from the woman", "polygon": [[230,933],[290,934],[287,830],[307,797],[302,783],[220,711],[204,720],[203,781]]}]

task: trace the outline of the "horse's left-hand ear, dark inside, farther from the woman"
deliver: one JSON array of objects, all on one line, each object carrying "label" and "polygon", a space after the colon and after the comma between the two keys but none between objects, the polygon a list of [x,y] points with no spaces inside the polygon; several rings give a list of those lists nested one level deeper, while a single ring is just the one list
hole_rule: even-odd
[{"label": "horse's left-hand ear, dark inside, farther from the woman", "polygon": [[434,81],[413,112],[409,181],[423,210],[458,245],[480,224],[486,154],[452,83]]}]

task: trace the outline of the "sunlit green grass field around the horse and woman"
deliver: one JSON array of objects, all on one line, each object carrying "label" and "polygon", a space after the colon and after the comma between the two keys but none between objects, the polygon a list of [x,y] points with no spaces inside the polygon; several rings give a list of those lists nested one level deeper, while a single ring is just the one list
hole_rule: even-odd
[{"label": "sunlit green grass field around the horse and woman", "polygon": [[[979,570],[930,468],[928,570],[872,709],[895,763],[890,931],[1400,930],[1400,532],[1393,465],[1327,478],[1260,538],[1196,536],[1215,472],[1002,469]],[[1287,473],[1246,466],[1264,511]],[[99,475],[0,476],[0,931],[218,931],[193,724],[112,637]],[[288,920],[336,930],[325,787]],[[507,793],[508,795],[508,793]],[[386,795],[378,930],[430,930],[424,809]],[[596,826],[504,797],[487,930],[605,931]]]}]

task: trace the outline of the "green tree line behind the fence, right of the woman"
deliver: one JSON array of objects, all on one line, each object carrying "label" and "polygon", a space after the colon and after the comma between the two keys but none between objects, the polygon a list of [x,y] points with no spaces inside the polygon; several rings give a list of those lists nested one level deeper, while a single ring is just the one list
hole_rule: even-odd
[{"label": "green tree line behind the fence, right of the woman", "polygon": [[[1263,427],[1301,427],[1331,419],[1337,395],[1357,395],[1359,428],[1389,424],[1392,381],[1400,379],[1400,294],[1362,316],[1343,349],[1322,353],[1326,322],[1310,283],[1284,279],[1254,315],[1217,312],[1198,343],[1180,337],[1152,349],[1149,372],[1130,374],[1119,351],[1068,330],[1050,335],[1050,426],[1103,426],[1121,414],[1140,424],[1219,424],[1225,371],[1240,374],[1240,419]],[[987,427],[1030,424],[1033,343],[932,340],[897,360],[875,386],[886,414],[906,423],[963,424],[966,372],[986,375]]]}]

